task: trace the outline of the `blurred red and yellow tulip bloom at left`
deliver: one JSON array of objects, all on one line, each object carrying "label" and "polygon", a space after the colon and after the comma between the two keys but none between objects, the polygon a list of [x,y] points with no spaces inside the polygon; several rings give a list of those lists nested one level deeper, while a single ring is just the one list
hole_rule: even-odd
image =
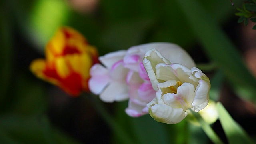
[{"label": "blurred red and yellow tulip bloom at left", "polygon": [[76,30],[61,27],[47,43],[46,59],[36,59],[30,70],[38,77],[59,86],[71,96],[89,91],[91,66],[98,62],[98,52]]}]

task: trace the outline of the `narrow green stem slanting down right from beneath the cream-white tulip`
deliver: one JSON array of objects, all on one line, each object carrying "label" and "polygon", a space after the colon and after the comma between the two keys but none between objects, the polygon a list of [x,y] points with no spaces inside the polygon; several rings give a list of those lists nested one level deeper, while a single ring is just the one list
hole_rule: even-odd
[{"label": "narrow green stem slanting down right from beneath the cream-white tulip", "polygon": [[198,122],[201,124],[202,129],[214,144],[224,144],[222,140],[220,140],[219,136],[214,132],[214,130],[212,130],[211,126],[204,121],[199,113],[194,112],[193,110],[190,111],[196,117],[196,120],[198,120]]}]

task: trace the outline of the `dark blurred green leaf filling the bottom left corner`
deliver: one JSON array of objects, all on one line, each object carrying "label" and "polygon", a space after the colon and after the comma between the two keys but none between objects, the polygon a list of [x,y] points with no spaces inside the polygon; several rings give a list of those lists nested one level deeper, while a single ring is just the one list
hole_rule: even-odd
[{"label": "dark blurred green leaf filling the bottom left corner", "polygon": [[20,114],[0,116],[0,143],[78,144],[63,132],[52,129],[46,116]]}]

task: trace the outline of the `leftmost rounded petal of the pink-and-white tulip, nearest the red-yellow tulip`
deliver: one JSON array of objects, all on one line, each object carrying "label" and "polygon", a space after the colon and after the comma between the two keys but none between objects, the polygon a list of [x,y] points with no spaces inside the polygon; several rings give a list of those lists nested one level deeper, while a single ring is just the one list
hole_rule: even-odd
[{"label": "leftmost rounded petal of the pink-and-white tulip, nearest the red-yellow tulip", "polygon": [[90,69],[90,75],[91,78],[88,82],[90,91],[98,95],[110,82],[108,70],[100,64],[95,64]]}]

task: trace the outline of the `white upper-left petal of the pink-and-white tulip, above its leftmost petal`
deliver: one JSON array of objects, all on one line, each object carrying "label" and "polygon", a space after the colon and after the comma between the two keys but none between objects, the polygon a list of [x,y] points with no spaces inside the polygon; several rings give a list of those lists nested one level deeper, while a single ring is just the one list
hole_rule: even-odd
[{"label": "white upper-left petal of the pink-and-white tulip, above its leftmost petal", "polygon": [[125,54],[126,50],[110,52],[108,54],[105,54],[104,56],[100,56],[99,60],[104,66],[110,69],[114,63],[116,63],[119,60],[122,60]]}]

